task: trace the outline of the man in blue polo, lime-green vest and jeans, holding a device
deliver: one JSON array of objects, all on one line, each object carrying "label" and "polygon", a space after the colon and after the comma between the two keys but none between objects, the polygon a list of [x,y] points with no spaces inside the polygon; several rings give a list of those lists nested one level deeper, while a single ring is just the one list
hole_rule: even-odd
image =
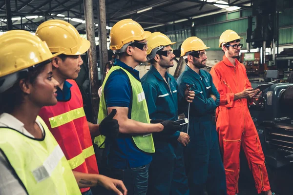
[{"label": "man in blue polo, lime-green vest and jeans, holding a device", "polygon": [[173,134],[180,125],[173,121],[149,124],[146,99],[139,72],[134,68],[146,61],[145,32],[137,22],[126,19],[117,22],[110,32],[110,49],[118,54],[113,67],[105,77],[98,121],[113,109],[117,110],[120,135],[114,140],[96,137],[95,143],[108,150],[107,176],[121,179],[128,195],[146,195],[148,167],[155,152],[152,134]]}]

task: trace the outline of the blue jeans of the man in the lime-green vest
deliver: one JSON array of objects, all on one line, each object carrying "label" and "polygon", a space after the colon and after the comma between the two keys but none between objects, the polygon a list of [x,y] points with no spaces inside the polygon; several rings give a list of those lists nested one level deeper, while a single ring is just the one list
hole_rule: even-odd
[{"label": "blue jeans of the man in the lime-green vest", "polygon": [[[107,168],[105,175],[122,180],[128,191],[127,195],[146,195],[149,164],[127,169]],[[112,194],[108,192],[107,195]]]}]

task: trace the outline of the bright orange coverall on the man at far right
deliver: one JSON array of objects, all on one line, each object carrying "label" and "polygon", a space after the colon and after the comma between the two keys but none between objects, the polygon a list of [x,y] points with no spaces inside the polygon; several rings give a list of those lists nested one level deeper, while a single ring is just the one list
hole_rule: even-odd
[{"label": "bright orange coverall on the man at far right", "polygon": [[270,190],[264,163],[265,156],[248,110],[248,100],[234,100],[234,94],[251,88],[244,65],[235,59],[234,66],[224,55],[223,60],[211,68],[210,74],[220,94],[220,105],[216,109],[216,127],[226,172],[227,194],[238,193],[241,145],[252,171],[257,192],[260,194],[262,191]]}]

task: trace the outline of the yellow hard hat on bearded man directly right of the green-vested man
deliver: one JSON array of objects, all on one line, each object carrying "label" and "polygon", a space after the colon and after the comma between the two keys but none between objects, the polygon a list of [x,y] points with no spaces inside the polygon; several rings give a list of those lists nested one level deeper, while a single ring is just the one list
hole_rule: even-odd
[{"label": "yellow hard hat on bearded man directly right of the green-vested man", "polygon": [[147,60],[155,58],[157,51],[164,48],[167,45],[173,45],[176,42],[172,42],[166,35],[160,32],[155,32],[150,35],[147,40]]}]

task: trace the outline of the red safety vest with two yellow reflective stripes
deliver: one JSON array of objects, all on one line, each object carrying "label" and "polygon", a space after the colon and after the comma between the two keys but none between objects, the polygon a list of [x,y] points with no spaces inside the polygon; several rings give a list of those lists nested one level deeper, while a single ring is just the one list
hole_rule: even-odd
[{"label": "red safety vest with two yellow reflective stripes", "polygon": [[[83,98],[77,83],[66,80],[70,87],[71,98],[58,101],[54,106],[44,106],[40,116],[51,127],[50,131],[59,143],[73,171],[99,174],[92,138],[83,109]],[[81,188],[81,192],[89,188]]]}]

